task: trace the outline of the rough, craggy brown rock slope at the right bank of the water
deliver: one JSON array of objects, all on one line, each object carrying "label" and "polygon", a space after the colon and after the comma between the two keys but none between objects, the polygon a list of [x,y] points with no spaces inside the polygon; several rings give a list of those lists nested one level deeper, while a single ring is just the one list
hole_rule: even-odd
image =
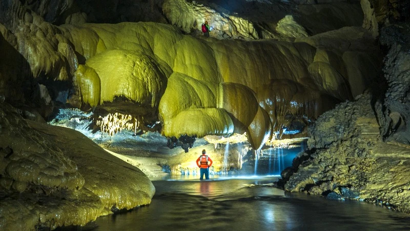
[{"label": "rough, craggy brown rock slope at the right bank of the water", "polygon": [[309,131],[308,151],[282,172],[285,190],[381,201],[410,212],[410,147],[383,143],[370,95],[325,112]]}]

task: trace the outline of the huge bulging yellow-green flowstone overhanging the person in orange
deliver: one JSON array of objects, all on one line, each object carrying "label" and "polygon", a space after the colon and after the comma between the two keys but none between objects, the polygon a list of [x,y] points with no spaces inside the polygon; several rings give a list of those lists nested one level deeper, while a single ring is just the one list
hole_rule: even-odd
[{"label": "huge bulging yellow-green flowstone overhanging the person in orange", "polygon": [[[26,32],[28,40],[42,38],[50,41],[45,44],[61,48],[23,52],[34,78],[47,74],[49,79],[70,81],[74,69],[73,83],[83,104],[95,108],[122,97],[158,108],[167,137],[247,132],[249,142],[258,149],[274,132],[281,133],[287,123],[284,118],[307,123],[335,102],[351,99],[351,89],[355,95],[360,93],[368,82],[353,71],[357,63],[343,60],[344,53],[351,52],[344,43],[351,41],[332,42],[332,35],[331,41],[329,35],[306,40],[325,46],[315,48],[277,41],[204,42],[155,23],[37,24],[42,27],[32,24],[36,30]],[[44,30],[47,36],[38,36]],[[364,30],[347,32],[358,31],[361,34],[355,34],[356,39],[366,40]],[[18,44],[24,51],[40,49],[34,43]],[[73,51],[78,54],[76,59]],[[56,59],[51,56],[50,60],[46,55],[50,52]],[[361,56],[358,62],[376,66],[365,52]],[[61,63],[68,59],[69,65]],[[85,64],[78,66],[77,62]],[[349,81],[361,85],[356,88]]]}]

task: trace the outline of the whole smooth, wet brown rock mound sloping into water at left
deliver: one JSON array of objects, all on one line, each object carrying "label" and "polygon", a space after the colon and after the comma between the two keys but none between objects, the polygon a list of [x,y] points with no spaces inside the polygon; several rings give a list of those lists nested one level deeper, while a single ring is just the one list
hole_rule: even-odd
[{"label": "whole smooth, wet brown rock mound sloping into water at left", "polygon": [[151,202],[155,188],[138,168],[77,131],[19,113],[0,103],[0,229],[85,225]]}]

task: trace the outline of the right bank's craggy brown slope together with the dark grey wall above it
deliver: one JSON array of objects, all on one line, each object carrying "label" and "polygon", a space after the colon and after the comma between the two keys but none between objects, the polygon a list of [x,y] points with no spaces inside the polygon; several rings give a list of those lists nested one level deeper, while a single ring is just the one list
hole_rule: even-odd
[{"label": "right bank's craggy brown slope together with the dark grey wall above it", "polygon": [[309,128],[308,150],[282,172],[279,185],[285,190],[410,212],[408,32],[403,24],[383,28],[381,42],[389,48],[383,68],[387,89],[375,85],[373,94],[323,113]]}]

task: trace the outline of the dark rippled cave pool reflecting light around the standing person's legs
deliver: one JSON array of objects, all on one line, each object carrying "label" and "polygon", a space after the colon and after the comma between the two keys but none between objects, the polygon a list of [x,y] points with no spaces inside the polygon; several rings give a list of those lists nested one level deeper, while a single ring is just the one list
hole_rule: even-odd
[{"label": "dark rippled cave pool reflecting light around the standing person's legs", "polygon": [[274,188],[277,177],[153,179],[152,203],[83,230],[410,230],[408,215]]}]

